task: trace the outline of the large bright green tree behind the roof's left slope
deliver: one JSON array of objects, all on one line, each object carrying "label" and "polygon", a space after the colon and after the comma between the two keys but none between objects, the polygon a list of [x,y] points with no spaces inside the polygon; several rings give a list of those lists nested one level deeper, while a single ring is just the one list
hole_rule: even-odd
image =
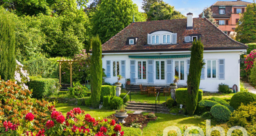
[{"label": "large bright green tree behind the roof's left slope", "polygon": [[143,13],[131,0],[101,0],[95,12],[91,12],[93,34],[99,34],[102,43],[135,21],[145,21]]}]

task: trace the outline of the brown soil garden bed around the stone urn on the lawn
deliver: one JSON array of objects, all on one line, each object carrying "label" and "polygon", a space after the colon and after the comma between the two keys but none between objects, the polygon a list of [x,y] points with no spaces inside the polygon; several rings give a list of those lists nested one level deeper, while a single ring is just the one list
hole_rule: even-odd
[{"label": "brown soil garden bed around the stone urn on the lawn", "polygon": [[[142,115],[142,114],[128,114],[129,116],[125,119],[125,122],[123,126],[130,127],[132,123],[140,123],[141,127],[140,129],[142,130],[147,126],[147,123],[150,121],[155,121],[157,117],[154,118],[149,118],[148,115]],[[118,119],[115,117],[115,114],[112,114],[108,116],[107,118],[114,119],[116,122]]]}]

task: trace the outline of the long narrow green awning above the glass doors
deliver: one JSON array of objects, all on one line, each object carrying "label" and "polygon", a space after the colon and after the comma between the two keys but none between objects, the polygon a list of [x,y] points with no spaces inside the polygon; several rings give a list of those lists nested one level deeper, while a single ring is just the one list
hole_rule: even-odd
[{"label": "long narrow green awning above the glass doors", "polygon": [[129,55],[129,58],[183,58],[183,57],[190,57],[190,54],[186,54],[186,55],[145,55],[145,56],[140,56],[140,55]]}]

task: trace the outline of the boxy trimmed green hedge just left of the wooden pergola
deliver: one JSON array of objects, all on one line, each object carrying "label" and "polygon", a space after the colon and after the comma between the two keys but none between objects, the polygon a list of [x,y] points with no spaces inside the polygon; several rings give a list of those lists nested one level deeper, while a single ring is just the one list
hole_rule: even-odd
[{"label": "boxy trimmed green hedge just left of the wooden pergola", "polygon": [[59,92],[58,79],[32,77],[27,84],[28,88],[33,90],[33,98],[41,99],[43,97],[57,95]]}]

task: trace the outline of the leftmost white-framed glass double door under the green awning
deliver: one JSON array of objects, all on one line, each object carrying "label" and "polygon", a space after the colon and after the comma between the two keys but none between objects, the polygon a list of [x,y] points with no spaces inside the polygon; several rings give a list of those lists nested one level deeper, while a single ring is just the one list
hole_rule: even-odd
[{"label": "leftmost white-framed glass double door under the green awning", "polygon": [[146,61],[138,61],[138,82],[147,82],[147,64]]}]

